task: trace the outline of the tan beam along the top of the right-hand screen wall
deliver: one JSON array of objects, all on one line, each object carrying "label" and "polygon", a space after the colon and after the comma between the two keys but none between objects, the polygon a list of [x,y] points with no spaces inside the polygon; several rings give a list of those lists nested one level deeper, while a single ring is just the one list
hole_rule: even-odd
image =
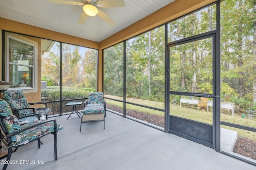
[{"label": "tan beam along the top of the right-hand screen wall", "polygon": [[145,31],[158,27],[215,1],[216,0],[176,0],[148,17],[101,41],[100,49],[105,49],[140,33],[144,33]]}]

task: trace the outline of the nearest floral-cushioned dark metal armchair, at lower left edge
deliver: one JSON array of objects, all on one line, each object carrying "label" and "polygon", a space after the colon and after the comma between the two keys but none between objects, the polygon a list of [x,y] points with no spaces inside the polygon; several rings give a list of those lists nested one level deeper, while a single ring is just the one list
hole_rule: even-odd
[{"label": "nearest floral-cushioned dark metal armchair, at lower left edge", "polygon": [[[40,148],[40,138],[52,133],[54,135],[54,159],[57,160],[57,131],[62,130],[62,125],[57,125],[56,120],[38,120],[24,125],[20,125],[18,118],[12,114],[12,109],[8,103],[0,99],[0,128],[1,141],[7,146],[8,154],[5,156],[6,162],[10,162],[12,155],[12,148],[22,147],[32,141],[38,140],[38,148]],[[26,115],[32,116],[32,115]],[[26,117],[25,116],[25,117]],[[5,151],[7,152],[7,150]],[[7,168],[8,164],[4,164],[3,170]]]}]

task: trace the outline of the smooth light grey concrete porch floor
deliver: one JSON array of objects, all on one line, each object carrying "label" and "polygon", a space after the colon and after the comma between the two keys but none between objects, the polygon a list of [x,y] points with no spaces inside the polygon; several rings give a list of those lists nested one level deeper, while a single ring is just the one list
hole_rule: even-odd
[{"label": "smooth light grey concrete porch floor", "polygon": [[[164,133],[107,112],[104,122],[82,123],[76,114],[54,117],[58,132],[58,160],[53,135],[20,147],[9,170],[255,170],[256,167],[187,139]],[[5,159],[3,159],[5,160]],[[24,164],[18,164],[23,162]],[[27,163],[26,163],[27,161]],[[30,162],[29,162],[30,161]],[[39,162],[39,163],[38,163]],[[29,164],[31,163],[31,164]],[[35,163],[35,164],[34,164]],[[41,163],[41,164],[40,164]],[[0,164],[2,168],[2,164]]]}]

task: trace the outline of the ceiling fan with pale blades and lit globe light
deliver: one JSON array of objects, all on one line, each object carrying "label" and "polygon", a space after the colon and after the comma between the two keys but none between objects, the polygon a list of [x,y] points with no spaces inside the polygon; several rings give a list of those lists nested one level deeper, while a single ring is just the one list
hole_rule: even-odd
[{"label": "ceiling fan with pale blades and lit globe light", "polygon": [[68,0],[48,0],[48,2],[53,4],[66,4],[66,5],[80,5],[84,6],[84,12],[81,14],[78,24],[84,24],[88,16],[98,15],[102,20],[104,20],[111,27],[116,23],[102,10],[99,8],[115,8],[124,7],[124,0],[81,0],[81,2],[68,1]]}]

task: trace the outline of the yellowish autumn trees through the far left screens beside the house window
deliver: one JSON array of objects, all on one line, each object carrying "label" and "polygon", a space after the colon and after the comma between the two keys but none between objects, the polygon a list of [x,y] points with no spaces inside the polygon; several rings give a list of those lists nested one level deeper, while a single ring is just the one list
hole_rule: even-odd
[{"label": "yellowish autumn trees through the far left screens beside the house window", "polygon": [[[42,80],[60,86],[60,44],[42,55]],[[97,51],[62,43],[62,86],[96,89]]]}]

